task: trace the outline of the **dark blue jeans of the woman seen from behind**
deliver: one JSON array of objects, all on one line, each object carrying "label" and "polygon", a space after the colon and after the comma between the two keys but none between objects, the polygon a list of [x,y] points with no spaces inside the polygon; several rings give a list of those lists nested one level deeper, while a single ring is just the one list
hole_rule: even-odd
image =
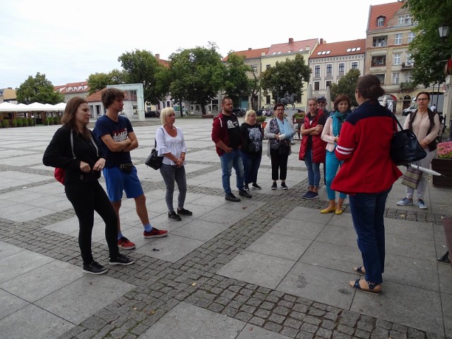
[{"label": "dark blue jeans of the woman seen from behind", "polygon": [[366,280],[381,284],[384,272],[384,208],[391,189],[375,194],[349,196],[353,225],[366,270]]}]

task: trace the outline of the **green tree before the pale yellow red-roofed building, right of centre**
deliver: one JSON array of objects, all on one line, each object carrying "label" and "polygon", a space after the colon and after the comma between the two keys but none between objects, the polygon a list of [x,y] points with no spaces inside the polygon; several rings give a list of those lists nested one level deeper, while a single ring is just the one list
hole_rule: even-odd
[{"label": "green tree before the pale yellow red-roofed building, right of centre", "polygon": [[[262,89],[267,95],[271,93],[273,98],[278,97],[278,92],[297,94],[298,100],[302,98],[302,88],[304,83],[309,83],[311,77],[311,69],[304,62],[304,57],[300,54],[295,56],[295,59],[279,62],[276,61],[275,66],[266,69],[262,73]],[[280,87],[283,86],[283,90]],[[276,101],[276,100],[275,100]]]}]

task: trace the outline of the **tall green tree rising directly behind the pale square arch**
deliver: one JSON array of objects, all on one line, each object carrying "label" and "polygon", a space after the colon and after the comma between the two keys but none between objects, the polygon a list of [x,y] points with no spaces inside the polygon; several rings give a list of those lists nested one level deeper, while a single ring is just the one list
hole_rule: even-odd
[{"label": "tall green tree rising directly behind the pale square arch", "polygon": [[167,94],[161,86],[157,86],[157,74],[165,66],[160,65],[151,52],[136,49],[122,54],[118,61],[126,72],[126,83],[143,83],[145,102],[155,105]]}]

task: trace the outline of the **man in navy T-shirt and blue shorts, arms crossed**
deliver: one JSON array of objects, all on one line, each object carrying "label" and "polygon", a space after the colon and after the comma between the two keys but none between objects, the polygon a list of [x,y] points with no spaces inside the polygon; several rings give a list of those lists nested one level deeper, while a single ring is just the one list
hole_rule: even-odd
[{"label": "man in navy T-shirt and blue shorts, arms crossed", "polygon": [[119,115],[124,107],[124,92],[108,88],[102,93],[102,104],[107,108],[107,113],[97,119],[93,132],[106,155],[103,173],[108,197],[118,217],[118,246],[121,249],[134,249],[135,244],[121,233],[119,208],[123,191],[127,198],[135,200],[136,214],[144,227],[143,237],[165,237],[168,232],[157,230],[149,222],[146,198],[130,155],[130,151],[138,147],[138,140],[129,119]]}]

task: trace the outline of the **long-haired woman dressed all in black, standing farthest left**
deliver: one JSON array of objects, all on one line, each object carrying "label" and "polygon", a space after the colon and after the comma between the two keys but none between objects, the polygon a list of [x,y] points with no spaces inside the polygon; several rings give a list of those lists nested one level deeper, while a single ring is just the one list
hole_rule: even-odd
[{"label": "long-haired woman dressed all in black, standing farthest left", "polygon": [[97,263],[91,253],[94,211],[105,221],[105,239],[110,265],[130,265],[134,262],[119,253],[117,216],[112,203],[97,179],[105,166],[100,146],[88,129],[90,108],[83,97],[73,97],[66,104],[63,126],[50,141],[42,157],[46,166],[65,170],[64,189],[78,218],[78,245],[83,259],[83,272],[102,274],[107,268]]}]

